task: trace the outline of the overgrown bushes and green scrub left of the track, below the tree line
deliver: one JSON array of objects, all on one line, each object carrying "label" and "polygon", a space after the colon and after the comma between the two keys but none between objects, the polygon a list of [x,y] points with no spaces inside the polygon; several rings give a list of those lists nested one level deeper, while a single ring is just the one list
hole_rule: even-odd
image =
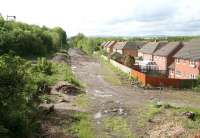
[{"label": "overgrown bushes and green scrub left of the track, below the tree line", "polygon": [[48,101],[40,87],[60,80],[80,86],[67,64],[45,58],[32,64],[13,54],[0,56],[0,137],[37,137],[38,100]]}]

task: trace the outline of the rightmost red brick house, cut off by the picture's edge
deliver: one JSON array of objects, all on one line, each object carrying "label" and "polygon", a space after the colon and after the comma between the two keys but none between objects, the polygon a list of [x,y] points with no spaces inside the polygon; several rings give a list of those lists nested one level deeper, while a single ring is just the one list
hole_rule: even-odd
[{"label": "rightmost red brick house, cut off by the picture's edge", "polygon": [[174,58],[174,67],[170,68],[169,77],[196,79],[200,74],[200,40],[184,43]]}]

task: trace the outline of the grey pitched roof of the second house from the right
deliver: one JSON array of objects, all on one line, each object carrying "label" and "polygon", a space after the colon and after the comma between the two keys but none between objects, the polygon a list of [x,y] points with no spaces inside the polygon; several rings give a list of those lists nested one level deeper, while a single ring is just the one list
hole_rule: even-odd
[{"label": "grey pitched roof of the second house from the right", "polygon": [[174,50],[176,50],[178,47],[181,47],[180,42],[170,42],[155,51],[154,55],[156,56],[169,56]]}]

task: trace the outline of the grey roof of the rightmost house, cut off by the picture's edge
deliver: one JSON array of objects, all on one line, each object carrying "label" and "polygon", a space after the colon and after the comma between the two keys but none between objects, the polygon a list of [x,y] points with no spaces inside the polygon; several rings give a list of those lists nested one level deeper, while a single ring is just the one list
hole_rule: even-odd
[{"label": "grey roof of the rightmost house, cut off by the picture's edge", "polygon": [[183,44],[174,56],[175,58],[200,60],[200,39],[191,40]]}]

